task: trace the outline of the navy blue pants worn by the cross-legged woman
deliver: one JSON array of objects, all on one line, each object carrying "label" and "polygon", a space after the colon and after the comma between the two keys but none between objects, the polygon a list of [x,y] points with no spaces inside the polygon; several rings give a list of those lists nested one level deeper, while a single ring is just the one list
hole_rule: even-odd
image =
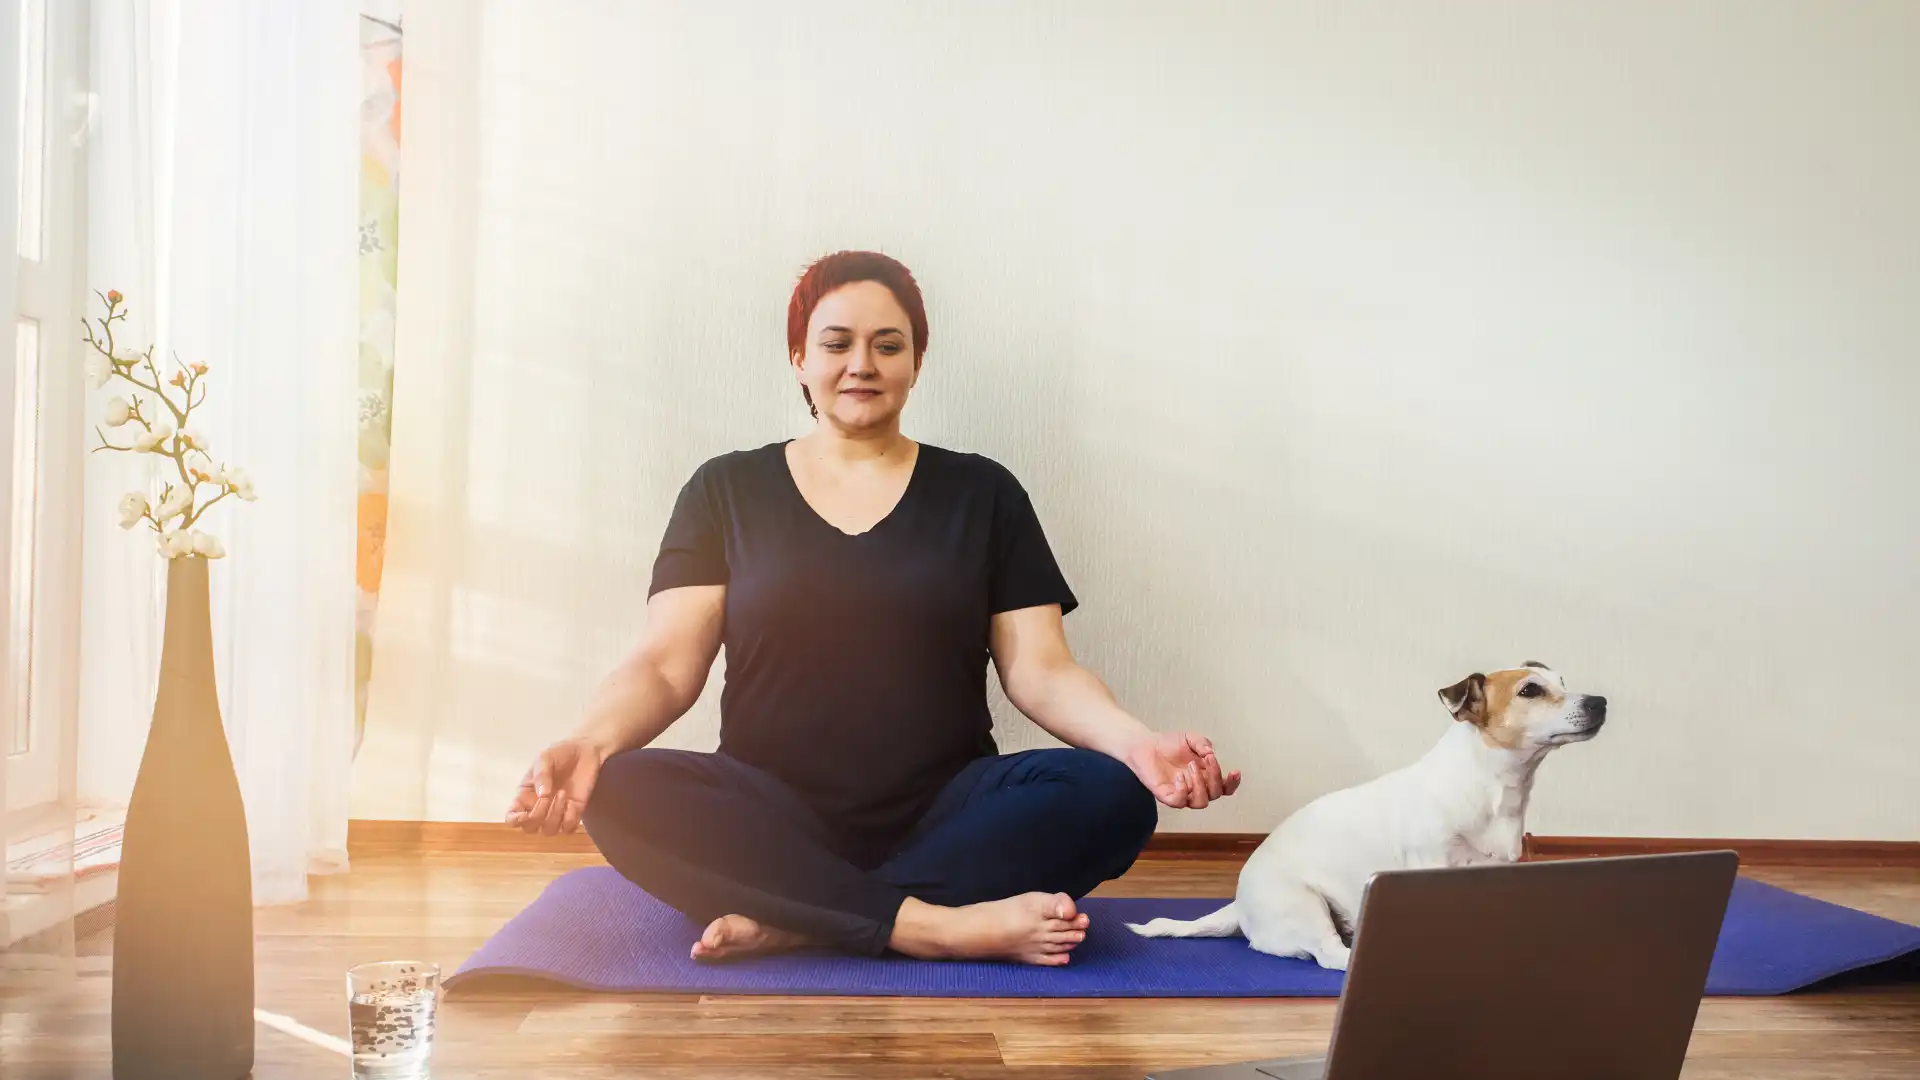
[{"label": "navy blue pants worn by the cross-legged woman", "polygon": [[745,915],[879,955],[906,897],[1079,899],[1127,872],[1158,817],[1152,792],[1104,753],[981,757],[864,867],[876,859],[768,773],[722,753],[632,749],[607,759],[584,824],[616,871],[697,922]]}]

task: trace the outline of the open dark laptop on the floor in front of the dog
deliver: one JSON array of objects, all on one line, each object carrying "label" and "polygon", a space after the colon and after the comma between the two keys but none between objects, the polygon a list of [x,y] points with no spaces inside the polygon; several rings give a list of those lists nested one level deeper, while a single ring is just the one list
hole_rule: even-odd
[{"label": "open dark laptop on the floor in front of the dog", "polygon": [[1375,874],[1323,1057],[1150,1080],[1674,1080],[1738,871],[1690,851]]}]

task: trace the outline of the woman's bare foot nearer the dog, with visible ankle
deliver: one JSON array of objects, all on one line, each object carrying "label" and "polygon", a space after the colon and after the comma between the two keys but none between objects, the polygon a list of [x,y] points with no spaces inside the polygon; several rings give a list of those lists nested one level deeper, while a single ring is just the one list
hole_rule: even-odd
[{"label": "woman's bare foot nearer the dog, with visible ankle", "polygon": [[1087,940],[1087,917],[1062,892],[1029,892],[935,907],[918,899],[900,905],[893,922],[895,951],[918,959],[1016,961],[1060,967]]}]

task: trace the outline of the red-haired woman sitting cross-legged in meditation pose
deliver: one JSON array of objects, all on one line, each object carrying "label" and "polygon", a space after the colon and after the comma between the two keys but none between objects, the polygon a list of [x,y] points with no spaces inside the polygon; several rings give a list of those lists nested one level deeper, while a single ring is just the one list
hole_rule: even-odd
[{"label": "red-haired woman sitting cross-legged in meditation pose", "polygon": [[[707,461],[653,565],[647,626],[507,813],[582,822],[707,930],[710,961],[795,945],[1064,965],[1075,901],[1133,865],[1158,805],[1233,794],[1198,734],[1156,734],[1075,663],[1075,607],[1025,490],[916,444],[927,319],[900,263],[814,263],[787,346],[816,427]],[[720,749],[649,748],[726,648]],[[987,663],[1068,744],[1002,755]]]}]

